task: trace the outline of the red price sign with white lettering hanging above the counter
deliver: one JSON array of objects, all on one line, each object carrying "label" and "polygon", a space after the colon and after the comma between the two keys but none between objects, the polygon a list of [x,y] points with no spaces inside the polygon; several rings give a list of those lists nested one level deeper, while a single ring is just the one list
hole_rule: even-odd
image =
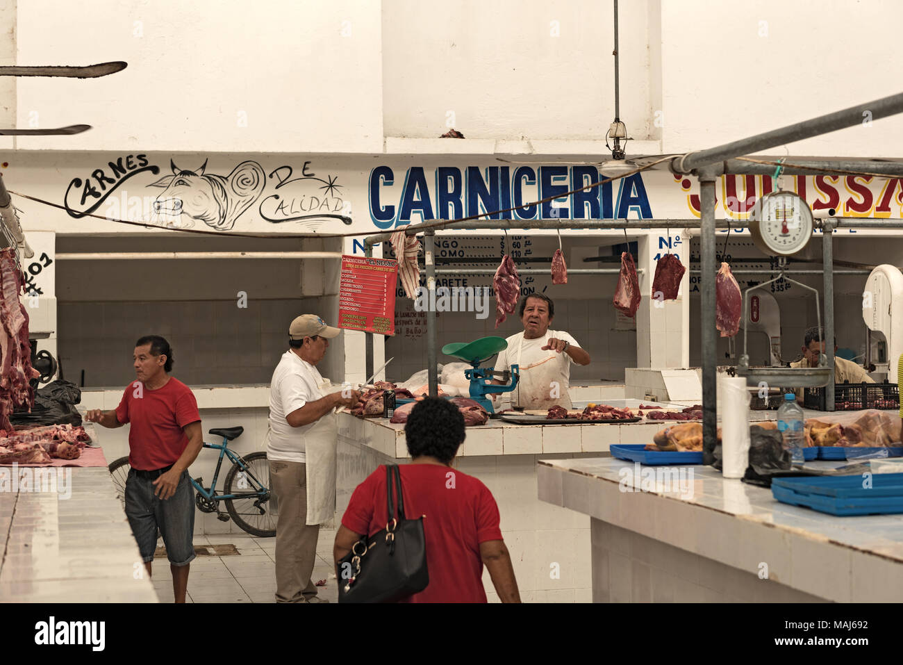
[{"label": "red price sign with white lettering hanging above the counter", "polygon": [[398,262],[390,258],[341,258],[339,327],[395,334]]}]

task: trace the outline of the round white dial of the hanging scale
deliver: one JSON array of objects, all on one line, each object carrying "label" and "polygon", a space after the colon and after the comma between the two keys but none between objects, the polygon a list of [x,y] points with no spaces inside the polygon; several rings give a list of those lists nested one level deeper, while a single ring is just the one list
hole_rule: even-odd
[{"label": "round white dial of the hanging scale", "polygon": [[788,257],[808,244],[815,223],[812,211],[799,194],[771,192],[756,201],[749,233],[766,254]]}]

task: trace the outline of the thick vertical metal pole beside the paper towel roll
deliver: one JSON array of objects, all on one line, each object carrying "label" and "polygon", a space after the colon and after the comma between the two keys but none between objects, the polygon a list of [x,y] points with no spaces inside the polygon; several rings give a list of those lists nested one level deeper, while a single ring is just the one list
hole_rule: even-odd
[{"label": "thick vertical metal pole beside the paper towel roll", "polygon": [[715,179],[718,173],[703,169],[699,174],[702,201],[702,342],[703,342],[703,464],[715,461],[718,440],[717,359],[715,358]]}]

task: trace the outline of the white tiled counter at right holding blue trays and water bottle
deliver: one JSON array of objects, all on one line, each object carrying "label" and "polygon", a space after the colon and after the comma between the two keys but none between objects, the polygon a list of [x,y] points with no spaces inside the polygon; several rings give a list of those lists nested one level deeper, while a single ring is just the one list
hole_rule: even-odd
[{"label": "white tiled counter at right holding blue trays and water bottle", "polygon": [[591,518],[576,554],[591,556],[594,602],[903,600],[903,516],[834,517],[683,468],[683,487],[665,476],[640,492],[628,462],[539,461],[539,498]]}]

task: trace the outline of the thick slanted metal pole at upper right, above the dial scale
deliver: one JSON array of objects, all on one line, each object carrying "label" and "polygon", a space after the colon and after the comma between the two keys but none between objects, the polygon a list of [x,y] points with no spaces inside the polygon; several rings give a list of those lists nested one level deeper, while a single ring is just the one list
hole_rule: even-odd
[{"label": "thick slanted metal pole at upper right, above the dial scale", "polygon": [[837,129],[861,124],[862,120],[877,120],[881,117],[894,116],[903,111],[903,93],[890,97],[875,99],[855,107],[844,108],[825,116],[814,117],[793,125],[773,129],[755,136],[741,138],[723,145],[716,145],[708,150],[700,150],[675,157],[671,169],[675,173],[691,173],[707,164],[723,162],[740,155],[758,153],[777,145],[802,141],[813,136],[820,136]]}]

